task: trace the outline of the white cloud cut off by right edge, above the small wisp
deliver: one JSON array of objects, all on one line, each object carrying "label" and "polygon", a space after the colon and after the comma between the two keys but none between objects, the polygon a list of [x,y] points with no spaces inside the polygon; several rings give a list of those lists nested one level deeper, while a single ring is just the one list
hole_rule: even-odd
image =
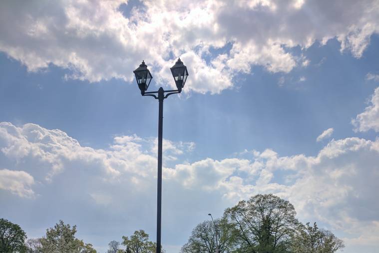
[{"label": "white cloud cut off by right edge, above the small wisp", "polygon": [[379,131],[379,87],[375,89],[370,102],[371,105],[366,107],[364,112],[358,114],[355,119],[352,119],[355,131],[363,132],[370,129]]}]

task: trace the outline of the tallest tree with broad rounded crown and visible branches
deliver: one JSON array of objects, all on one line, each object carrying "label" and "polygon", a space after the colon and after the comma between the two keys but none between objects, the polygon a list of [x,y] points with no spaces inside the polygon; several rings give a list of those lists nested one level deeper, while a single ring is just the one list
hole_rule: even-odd
[{"label": "tallest tree with broad rounded crown and visible branches", "polygon": [[238,231],[239,251],[288,252],[291,237],[300,226],[295,207],[273,194],[258,194],[227,208],[224,217]]}]

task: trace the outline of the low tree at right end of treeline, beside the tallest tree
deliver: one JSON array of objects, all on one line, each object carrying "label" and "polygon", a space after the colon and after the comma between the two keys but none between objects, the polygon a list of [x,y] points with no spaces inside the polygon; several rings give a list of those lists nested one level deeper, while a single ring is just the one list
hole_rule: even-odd
[{"label": "low tree at right end of treeline, beside the tallest tree", "polygon": [[316,222],[302,226],[292,240],[292,251],[299,253],[333,253],[345,247],[331,231],[319,229]]}]

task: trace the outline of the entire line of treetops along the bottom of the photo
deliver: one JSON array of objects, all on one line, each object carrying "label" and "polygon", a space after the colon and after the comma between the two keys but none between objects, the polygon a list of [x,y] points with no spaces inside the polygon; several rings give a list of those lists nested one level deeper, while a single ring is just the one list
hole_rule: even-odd
[{"label": "entire line of treetops along the bottom of the photo", "polygon": [[[333,253],[344,248],[331,231],[320,229],[316,222],[302,224],[295,216],[289,201],[258,194],[225,209],[222,218],[198,224],[181,253]],[[0,253],[96,253],[75,233],[76,225],[60,220],[41,238],[27,239],[19,225],[0,218]],[[144,230],[108,246],[107,253],[156,252],[156,243]]]}]

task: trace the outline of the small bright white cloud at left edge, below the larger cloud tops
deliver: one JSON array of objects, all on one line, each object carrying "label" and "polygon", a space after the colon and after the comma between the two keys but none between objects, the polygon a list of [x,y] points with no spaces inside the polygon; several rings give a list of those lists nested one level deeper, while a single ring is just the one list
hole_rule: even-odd
[{"label": "small bright white cloud at left edge, below the larger cloud tops", "polygon": [[0,169],[0,189],[9,190],[20,197],[34,197],[32,184],[34,178],[25,171]]}]

